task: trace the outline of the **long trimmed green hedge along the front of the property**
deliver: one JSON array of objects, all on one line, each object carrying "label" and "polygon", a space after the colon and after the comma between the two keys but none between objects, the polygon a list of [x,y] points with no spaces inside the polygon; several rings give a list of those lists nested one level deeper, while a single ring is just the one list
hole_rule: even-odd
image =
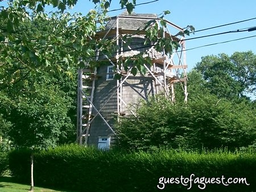
[{"label": "long trimmed green hedge along the front of the property", "polygon": [[[26,182],[29,183],[30,152],[13,151],[9,155],[9,162],[14,176],[19,180],[26,178]],[[246,182],[250,185],[207,184],[204,191],[256,189],[256,156],[253,153],[199,154],[172,150],[126,153],[67,145],[35,153],[34,162],[35,185],[77,191],[158,191],[157,185],[163,187],[159,183],[159,178],[181,176],[189,178],[191,174],[195,174],[193,180],[196,183],[192,181],[190,190],[187,190],[189,183],[188,186],[181,183],[166,183],[164,190],[200,191],[197,177],[221,178],[222,176],[246,178]],[[203,184],[199,186],[204,187]]]}]

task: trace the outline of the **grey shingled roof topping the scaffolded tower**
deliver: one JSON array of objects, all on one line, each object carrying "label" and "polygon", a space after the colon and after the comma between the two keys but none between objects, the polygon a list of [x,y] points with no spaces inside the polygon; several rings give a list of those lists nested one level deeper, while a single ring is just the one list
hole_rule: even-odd
[{"label": "grey shingled roof topping the scaffolded tower", "polygon": [[[143,28],[149,20],[158,18],[156,14],[136,14],[132,12],[129,15],[127,11],[118,16],[118,28],[122,30],[138,30],[138,28]],[[112,18],[112,20],[106,24],[106,30],[117,28],[117,17]]]}]

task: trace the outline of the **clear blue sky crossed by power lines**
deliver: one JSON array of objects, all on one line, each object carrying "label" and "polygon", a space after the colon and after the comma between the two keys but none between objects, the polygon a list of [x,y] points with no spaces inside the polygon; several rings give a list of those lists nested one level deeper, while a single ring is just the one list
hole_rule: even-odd
[{"label": "clear blue sky crossed by power lines", "polygon": [[[154,0],[137,0],[137,4],[150,2]],[[2,2],[5,3],[5,2]],[[1,6],[1,3],[0,3]],[[119,0],[112,0],[109,10],[119,9]],[[94,9],[94,3],[88,0],[78,0],[77,5],[73,7],[71,12],[81,12],[86,15],[90,9]],[[204,28],[220,26],[241,20],[256,18],[256,1],[255,0],[158,0],[156,2],[148,3],[146,5],[136,6],[134,12],[136,13],[152,13],[161,14],[163,11],[169,10],[165,18],[180,27],[192,25],[195,30]],[[110,16],[119,15],[124,10],[111,11]],[[196,32],[187,37],[199,37],[211,34],[218,34],[222,32],[241,30],[244,28],[256,26],[256,19],[237,24],[231,24],[225,27],[218,27],[212,30]],[[187,40],[186,49],[191,49],[207,44],[219,43],[243,37],[256,36],[256,31],[251,32],[237,32],[230,34],[217,35],[212,37],[203,37],[199,39]],[[202,56],[218,55],[219,53],[226,53],[229,56],[238,51],[253,51],[256,54],[256,37],[232,41],[229,43],[222,43],[211,45],[208,47],[188,50],[187,65],[188,70],[191,70],[197,62],[201,61]]]}]

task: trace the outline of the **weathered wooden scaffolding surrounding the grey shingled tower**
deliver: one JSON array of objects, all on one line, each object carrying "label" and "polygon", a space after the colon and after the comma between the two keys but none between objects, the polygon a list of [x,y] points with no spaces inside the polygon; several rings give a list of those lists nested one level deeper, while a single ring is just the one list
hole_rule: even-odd
[{"label": "weathered wooden scaffolding surrounding the grey shingled tower", "polygon": [[[147,23],[149,20],[155,20],[157,23],[159,23],[161,19],[157,18],[157,16],[153,14],[121,14],[111,18],[110,22],[106,26],[106,31],[101,31],[96,34],[96,38],[98,39],[114,38],[116,40],[116,44],[119,46],[119,49],[115,53],[114,58],[109,59],[108,56],[103,55],[96,50],[96,61],[103,59],[108,60],[110,65],[116,66],[117,70],[115,73],[121,74],[122,77],[120,80],[113,80],[116,82],[115,90],[109,94],[108,99],[102,101],[103,104],[101,107],[97,108],[94,105],[96,82],[99,78],[97,68],[91,68],[90,64],[87,64],[84,69],[78,70],[77,143],[80,145],[88,144],[90,132],[93,131],[91,125],[96,117],[100,117],[102,122],[106,124],[108,130],[110,130],[113,135],[115,134],[112,125],[108,122],[108,120],[106,120],[105,116],[101,114],[102,108],[106,107],[113,95],[117,97],[117,111],[115,111],[117,115],[127,115],[127,112],[125,114],[123,111],[124,108],[128,108],[130,103],[127,103],[123,98],[123,85],[127,79],[133,77],[133,75],[131,74],[131,69],[125,71],[122,65],[122,60],[127,56],[137,55],[140,51],[139,49],[133,49],[131,46],[128,46],[126,50],[124,50],[123,44],[126,42],[122,40],[122,36],[126,34],[136,34],[134,36],[143,38],[145,31],[138,32],[138,28],[136,27],[141,27],[139,25]],[[152,60],[152,64],[144,64],[144,68],[147,69],[147,72],[143,75],[143,78],[152,79],[155,95],[163,93],[167,97],[171,98],[172,102],[175,101],[174,84],[180,83],[184,90],[184,101],[187,102],[188,93],[186,69],[188,68],[188,65],[185,57],[185,41],[184,37],[182,36],[179,38],[171,35],[177,34],[177,32],[183,32],[184,30],[168,20],[164,20],[164,22],[166,22],[167,26],[164,27],[163,36],[170,37],[177,41],[180,47],[170,55],[165,53],[164,50],[162,52],[155,51],[154,43],[152,43],[152,46],[148,47],[146,50],[147,56],[149,56]],[[135,27],[123,27],[129,26],[130,23],[133,25],[134,23],[139,24],[138,26],[135,24]],[[118,63],[121,63],[121,66],[118,66]],[[183,77],[180,77],[181,74]],[[138,74],[137,76],[141,75]],[[130,114],[134,114],[133,110],[130,110]]]}]

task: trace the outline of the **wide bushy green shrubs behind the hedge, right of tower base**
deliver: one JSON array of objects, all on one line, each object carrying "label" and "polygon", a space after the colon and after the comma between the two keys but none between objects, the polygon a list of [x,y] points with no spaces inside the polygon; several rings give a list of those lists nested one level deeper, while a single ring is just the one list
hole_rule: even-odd
[{"label": "wide bushy green shrubs behind the hedge, right of tower base", "polygon": [[254,143],[255,109],[207,93],[194,96],[188,103],[160,97],[144,102],[136,117],[119,119],[115,145],[139,150],[161,146],[234,150]]}]

